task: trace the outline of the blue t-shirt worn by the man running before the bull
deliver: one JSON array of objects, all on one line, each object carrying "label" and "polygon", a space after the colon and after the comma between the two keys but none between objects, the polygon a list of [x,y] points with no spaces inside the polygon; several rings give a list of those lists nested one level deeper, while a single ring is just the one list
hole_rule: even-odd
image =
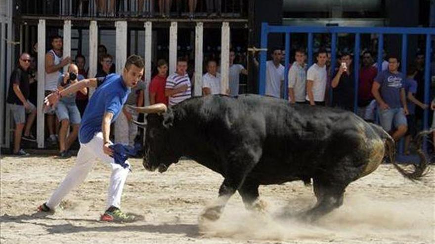
[{"label": "blue t-shirt worn by the man running before the bull", "polygon": [[101,132],[101,123],[105,112],[113,113],[112,123],[120,114],[131,91],[119,74],[109,74],[92,94],[79,130],[80,143],[89,142],[95,133]]}]

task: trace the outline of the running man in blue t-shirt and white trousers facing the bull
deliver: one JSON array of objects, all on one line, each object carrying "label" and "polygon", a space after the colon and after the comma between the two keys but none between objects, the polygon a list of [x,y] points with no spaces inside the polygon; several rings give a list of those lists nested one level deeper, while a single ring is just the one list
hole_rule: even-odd
[{"label": "running man in blue t-shirt and white trousers facing the bull", "polygon": [[[120,210],[121,195],[129,168],[116,164],[113,150],[109,148],[110,124],[113,123],[125,104],[131,88],[143,75],[144,61],[137,55],[131,55],[126,62],[122,75],[110,74],[106,77],[91,78],[78,82],[68,88],[57,91],[46,97],[46,105],[54,105],[68,94],[75,93],[85,87],[97,87],[87,104],[79,129],[80,150],[76,165],[68,173],[64,181],[54,191],[46,203],[38,208],[41,212],[53,212],[62,199],[76,186],[82,183],[92,169],[94,159],[99,158],[108,163],[112,169],[110,177],[107,210],[101,215],[102,221],[129,222],[134,216]],[[128,161],[126,161],[127,164]]]}]

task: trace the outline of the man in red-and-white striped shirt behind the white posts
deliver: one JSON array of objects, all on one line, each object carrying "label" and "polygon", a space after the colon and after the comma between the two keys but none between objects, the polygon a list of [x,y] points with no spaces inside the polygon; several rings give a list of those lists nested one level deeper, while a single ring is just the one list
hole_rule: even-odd
[{"label": "man in red-and-white striped shirt behind the white posts", "polygon": [[191,84],[187,70],[187,60],[179,58],[176,71],[166,80],[165,96],[169,97],[169,105],[176,105],[192,96]]}]

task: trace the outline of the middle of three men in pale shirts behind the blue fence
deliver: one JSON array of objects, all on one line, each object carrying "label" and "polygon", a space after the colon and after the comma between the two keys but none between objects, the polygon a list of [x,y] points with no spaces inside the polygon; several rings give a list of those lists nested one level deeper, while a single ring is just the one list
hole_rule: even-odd
[{"label": "middle of three men in pale shirts behind the blue fence", "polygon": [[298,49],[295,52],[295,62],[289,70],[289,102],[294,104],[305,103],[306,64],[305,52]]}]

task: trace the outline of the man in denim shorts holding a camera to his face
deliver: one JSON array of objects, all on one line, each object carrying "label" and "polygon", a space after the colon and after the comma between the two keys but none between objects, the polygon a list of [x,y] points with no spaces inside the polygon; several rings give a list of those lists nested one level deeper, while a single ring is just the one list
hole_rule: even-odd
[{"label": "man in denim shorts holding a camera to his face", "polygon": [[[57,88],[59,91],[62,91],[68,86],[75,84],[82,79],[84,79],[84,77],[83,75],[79,74],[79,68],[76,65],[71,64],[68,67],[68,72],[59,77]],[[79,92],[81,92],[83,95],[87,95],[86,88],[83,88]],[[56,106],[56,115],[61,123],[59,130],[59,157],[69,158],[71,157],[71,153],[68,151],[68,149],[77,139],[81,120],[80,111],[76,105],[76,93],[62,97],[59,100]],[[67,137],[70,124],[72,127],[72,132]]]}]

